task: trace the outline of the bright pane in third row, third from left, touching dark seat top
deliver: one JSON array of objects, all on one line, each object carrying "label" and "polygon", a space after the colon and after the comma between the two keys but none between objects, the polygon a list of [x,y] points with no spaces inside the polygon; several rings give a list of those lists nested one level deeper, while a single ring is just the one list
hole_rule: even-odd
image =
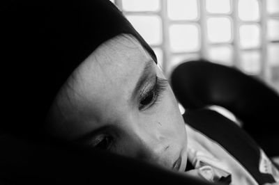
[{"label": "bright pane in third row, third from left, touching dark seat top", "polygon": [[233,65],[232,47],[230,46],[209,47],[209,61],[217,62],[223,65]]}]

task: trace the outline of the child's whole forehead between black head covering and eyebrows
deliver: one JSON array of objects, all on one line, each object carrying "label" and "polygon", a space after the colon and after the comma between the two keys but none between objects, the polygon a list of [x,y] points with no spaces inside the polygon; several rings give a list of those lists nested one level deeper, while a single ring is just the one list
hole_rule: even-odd
[{"label": "child's whole forehead between black head covering and eyebrows", "polygon": [[[86,134],[100,124],[113,122],[110,119],[114,114],[129,110],[129,97],[146,63],[155,65],[131,35],[119,35],[100,45],[77,67],[68,86],[59,93],[56,107],[62,120],[55,127],[67,124],[72,128],[67,130],[68,135],[71,130],[73,134]],[[57,125],[61,122],[63,125]]]}]

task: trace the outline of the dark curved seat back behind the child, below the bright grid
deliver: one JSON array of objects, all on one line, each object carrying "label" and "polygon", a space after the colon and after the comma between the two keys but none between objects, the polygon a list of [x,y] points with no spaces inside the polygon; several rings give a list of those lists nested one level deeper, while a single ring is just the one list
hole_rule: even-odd
[{"label": "dark curved seat back behind the child, below the bright grid", "polygon": [[171,75],[184,108],[217,105],[231,111],[269,156],[279,155],[279,95],[255,77],[209,61],[188,61]]}]

